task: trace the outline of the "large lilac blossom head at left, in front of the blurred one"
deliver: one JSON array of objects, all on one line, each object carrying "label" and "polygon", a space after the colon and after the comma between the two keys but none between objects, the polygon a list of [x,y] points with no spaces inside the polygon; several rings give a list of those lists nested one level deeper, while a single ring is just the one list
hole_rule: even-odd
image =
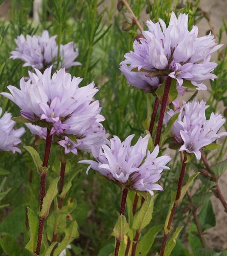
[{"label": "large lilac blossom head at left, in front of the blurred one", "polygon": [[[81,78],[71,77],[60,69],[51,77],[51,67],[42,74],[29,72],[30,78],[20,80],[20,89],[8,86],[10,93],[1,93],[21,109],[21,115],[33,125],[46,127],[51,134],[83,136],[95,122],[104,120],[99,101],[93,102],[98,89],[94,83],[78,87]],[[34,127],[33,127],[34,128]]]}]

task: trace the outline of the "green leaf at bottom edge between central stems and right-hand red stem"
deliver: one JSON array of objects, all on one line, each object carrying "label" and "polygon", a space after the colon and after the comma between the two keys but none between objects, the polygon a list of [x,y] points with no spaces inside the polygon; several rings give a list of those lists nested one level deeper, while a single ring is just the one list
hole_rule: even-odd
[{"label": "green leaf at bottom edge between central stems and right-hand red stem", "polygon": [[148,232],[142,236],[140,239],[137,249],[136,249],[136,256],[146,256],[148,255],[150,248],[153,245],[154,239],[159,231],[162,229],[163,225],[157,225],[155,227],[151,227]]}]

